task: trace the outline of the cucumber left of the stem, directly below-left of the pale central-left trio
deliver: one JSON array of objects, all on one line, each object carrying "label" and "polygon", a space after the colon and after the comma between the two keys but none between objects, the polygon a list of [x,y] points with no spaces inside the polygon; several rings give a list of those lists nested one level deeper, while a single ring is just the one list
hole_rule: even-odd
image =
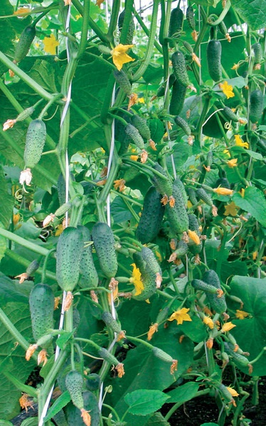
[{"label": "cucumber left of the stem, directly below-left of the pale central-left trio", "polygon": [[[53,329],[53,290],[47,284],[36,284],[31,290],[29,297],[31,311],[31,327],[34,340],[48,334],[49,329]],[[49,346],[48,342],[47,346]]]}]

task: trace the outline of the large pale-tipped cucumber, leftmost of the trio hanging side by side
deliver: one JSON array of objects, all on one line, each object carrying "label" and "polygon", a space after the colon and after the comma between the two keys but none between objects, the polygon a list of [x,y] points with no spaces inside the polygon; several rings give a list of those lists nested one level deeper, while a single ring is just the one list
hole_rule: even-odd
[{"label": "large pale-tipped cucumber, leftmost of the trio hanging side by side", "polygon": [[73,291],[78,284],[82,253],[82,232],[68,226],[59,236],[56,251],[56,278],[62,290]]}]

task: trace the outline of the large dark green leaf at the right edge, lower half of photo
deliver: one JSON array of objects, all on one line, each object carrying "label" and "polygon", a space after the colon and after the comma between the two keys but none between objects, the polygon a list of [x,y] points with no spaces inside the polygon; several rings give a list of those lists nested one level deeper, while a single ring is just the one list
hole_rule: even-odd
[{"label": "large dark green leaf at the right edge, lower half of photo", "polygon": [[[233,320],[236,325],[230,332],[234,335],[243,351],[250,353],[252,361],[266,346],[266,279],[242,277],[235,275],[230,283],[231,294],[243,301],[243,310],[249,317],[244,320]],[[240,308],[238,308],[240,309]],[[248,368],[240,368],[248,373]],[[252,376],[266,375],[266,354],[253,364]]]}]

